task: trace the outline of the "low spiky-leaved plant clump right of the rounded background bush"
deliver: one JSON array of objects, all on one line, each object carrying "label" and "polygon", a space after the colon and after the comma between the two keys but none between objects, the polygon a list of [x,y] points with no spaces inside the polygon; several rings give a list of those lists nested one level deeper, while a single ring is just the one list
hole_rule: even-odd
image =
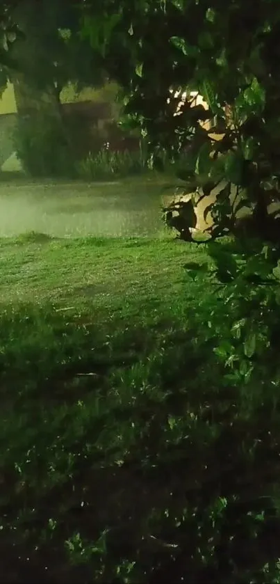
[{"label": "low spiky-leaved plant clump right of the rounded background bush", "polygon": [[88,157],[76,164],[76,171],[85,180],[108,180],[127,175],[135,175],[147,170],[141,152],[110,152],[105,145],[97,155],[90,152]]}]

